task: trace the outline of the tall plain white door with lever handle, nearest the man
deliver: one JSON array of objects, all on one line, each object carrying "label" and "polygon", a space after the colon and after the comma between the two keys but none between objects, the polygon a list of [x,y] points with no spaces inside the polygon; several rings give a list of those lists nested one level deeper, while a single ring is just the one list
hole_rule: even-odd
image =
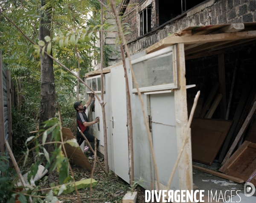
[{"label": "tall plain white door with lever handle, nearest the man", "polygon": [[111,69],[111,97],[115,174],[129,183],[125,77],[122,66]]}]

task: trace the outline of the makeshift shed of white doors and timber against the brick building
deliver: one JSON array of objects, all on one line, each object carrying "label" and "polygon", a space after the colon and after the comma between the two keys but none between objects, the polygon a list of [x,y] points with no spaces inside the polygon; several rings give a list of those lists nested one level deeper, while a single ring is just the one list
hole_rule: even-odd
[{"label": "makeshift shed of white doors and timber against the brick building", "polygon": [[[161,189],[165,189],[167,185],[177,154],[180,151],[183,140],[186,138],[184,133],[188,120],[188,104],[185,60],[218,55],[219,83],[216,86],[220,87],[221,95],[217,95],[212,103],[214,105],[211,105],[211,107],[211,101],[209,100],[212,99],[207,99],[204,102],[204,106],[201,106],[202,111],[200,111],[199,117],[211,118],[220,103],[221,118],[225,119],[229,109],[225,86],[224,50],[255,42],[256,23],[188,27],[132,56],[131,62],[140,89],[143,92],[145,112],[147,112],[147,119],[151,127]],[[168,64],[171,66],[168,66]],[[145,189],[157,189],[154,164],[143,122],[140,100],[136,89],[134,89],[130,67],[127,67],[127,71],[133,120],[134,177],[142,177],[146,181],[143,183]],[[100,77],[100,73],[101,71],[93,71],[85,75],[87,84],[94,90],[99,90],[97,89],[99,87],[97,86],[97,77]],[[129,183],[129,162],[131,160],[129,160],[128,152],[124,69],[122,64],[117,64],[104,69],[103,73],[105,74],[104,102],[107,103],[105,108],[107,109],[109,167]],[[213,88],[212,90],[214,93],[216,93],[215,89]],[[101,118],[101,107],[98,101],[96,101],[95,107],[93,118],[96,116]],[[210,156],[211,159],[212,156],[216,156],[216,152],[218,153],[217,150],[220,148],[219,161],[221,162],[224,159],[232,139],[232,134],[228,132],[234,126],[236,127],[236,124],[234,122],[223,123],[223,130],[218,136],[225,137],[216,142],[218,146],[214,148],[215,151]],[[97,126],[94,126],[94,132],[98,139],[101,140],[99,151],[103,152],[102,120],[100,120],[99,126],[99,130]],[[189,143],[187,143],[183,151],[171,189],[191,190],[193,188],[192,182],[192,146],[189,132]]]}]

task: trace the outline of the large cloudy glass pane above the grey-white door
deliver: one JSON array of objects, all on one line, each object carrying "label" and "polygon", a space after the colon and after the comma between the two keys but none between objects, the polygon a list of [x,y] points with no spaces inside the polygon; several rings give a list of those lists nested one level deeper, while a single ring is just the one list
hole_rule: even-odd
[{"label": "large cloudy glass pane above the grey-white door", "polygon": [[[174,83],[172,52],[132,65],[139,87]],[[133,81],[133,88],[135,83]]]}]

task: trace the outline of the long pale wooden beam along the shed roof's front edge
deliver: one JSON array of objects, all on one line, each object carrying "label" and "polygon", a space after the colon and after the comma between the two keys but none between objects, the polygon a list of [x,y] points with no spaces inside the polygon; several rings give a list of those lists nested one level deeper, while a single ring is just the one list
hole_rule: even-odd
[{"label": "long pale wooden beam along the shed roof's front edge", "polygon": [[177,43],[184,44],[195,44],[195,43],[208,43],[228,40],[241,40],[245,38],[256,38],[256,31],[243,31],[243,32],[232,32],[232,33],[221,33],[221,34],[206,34],[206,35],[192,35],[184,37],[166,37],[163,40],[155,43],[154,45],[146,49],[147,54],[163,49],[167,46],[172,46]]}]

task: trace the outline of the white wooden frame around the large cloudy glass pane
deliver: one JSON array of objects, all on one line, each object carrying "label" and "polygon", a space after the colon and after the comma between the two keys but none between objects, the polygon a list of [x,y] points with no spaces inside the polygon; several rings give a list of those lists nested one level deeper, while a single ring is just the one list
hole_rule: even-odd
[{"label": "white wooden frame around the large cloudy glass pane", "polygon": [[[154,51],[153,53],[146,54],[143,57],[139,57],[131,61],[131,64],[139,63],[144,60],[148,60],[153,57],[160,56],[162,54],[166,54],[172,52],[172,63],[173,63],[173,83],[165,84],[165,85],[156,85],[156,86],[148,86],[148,87],[141,87],[139,88],[141,92],[148,92],[148,91],[162,91],[162,90],[169,90],[169,89],[177,89],[178,88],[178,70],[177,70],[177,60],[176,60],[176,49],[175,46],[169,46],[159,51]],[[136,77],[136,76],[135,76]],[[131,91],[132,93],[137,93],[137,88],[133,86],[133,78],[131,76]]]}]

